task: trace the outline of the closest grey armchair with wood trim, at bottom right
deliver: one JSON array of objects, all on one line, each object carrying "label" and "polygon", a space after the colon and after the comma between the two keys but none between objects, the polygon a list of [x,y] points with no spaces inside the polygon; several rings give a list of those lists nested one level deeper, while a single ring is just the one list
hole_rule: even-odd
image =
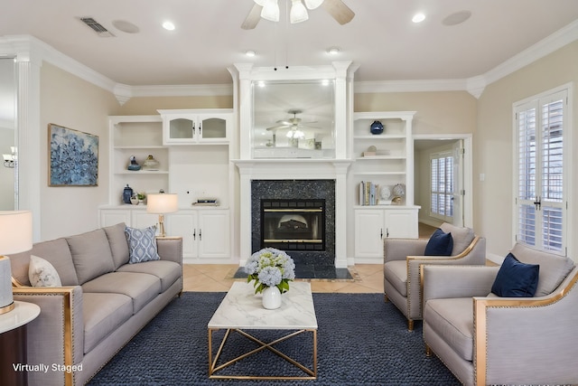
[{"label": "closest grey armchair with wood trim, at bottom right", "polygon": [[[423,266],[426,353],[467,386],[578,384],[578,268],[521,244],[511,253],[522,266],[539,266],[534,297],[490,293],[506,261],[502,268]],[[520,271],[512,273],[524,284]]]}]

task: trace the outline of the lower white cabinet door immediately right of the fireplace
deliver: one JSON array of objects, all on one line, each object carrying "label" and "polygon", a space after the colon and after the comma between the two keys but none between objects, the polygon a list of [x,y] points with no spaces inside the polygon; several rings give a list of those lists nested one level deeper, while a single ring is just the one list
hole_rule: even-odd
[{"label": "lower white cabinet door immediately right of the fireplace", "polygon": [[356,258],[382,258],[383,237],[385,237],[383,211],[355,211]]}]

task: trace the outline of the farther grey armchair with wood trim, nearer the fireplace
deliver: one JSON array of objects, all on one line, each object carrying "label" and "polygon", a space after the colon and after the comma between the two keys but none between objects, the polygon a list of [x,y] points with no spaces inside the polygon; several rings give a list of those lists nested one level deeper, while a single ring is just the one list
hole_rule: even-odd
[{"label": "farther grey armchair with wood trim, nearer the fireplace", "polygon": [[407,328],[414,330],[414,321],[422,319],[420,269],[422,264],[485,264],[486,240],[471,228],[443,223],[440,229],[452,233],[450,256],[424,256],[427,239],[384,240],[384,292],[407,318]]}]

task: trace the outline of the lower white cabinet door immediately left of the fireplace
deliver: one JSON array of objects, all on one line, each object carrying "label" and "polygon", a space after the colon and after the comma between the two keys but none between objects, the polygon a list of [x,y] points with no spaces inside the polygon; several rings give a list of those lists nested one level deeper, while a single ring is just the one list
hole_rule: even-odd
[{"label": "lower white cabinet door immediately left of the fireplace", "polygon": [[199,257],[228,258],[230,228],[228,211],[199,212]]}]

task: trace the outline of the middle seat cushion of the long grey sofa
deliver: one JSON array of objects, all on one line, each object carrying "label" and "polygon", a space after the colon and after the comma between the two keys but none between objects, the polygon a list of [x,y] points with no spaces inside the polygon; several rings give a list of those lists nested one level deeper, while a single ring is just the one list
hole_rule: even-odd
[{"label": "middle seat cushion of the long grey sofa", "polygon": [[161,293],[161,279],[145,273],[110,272],[84,283],[82,290],[131,297],[136,314]]}]

